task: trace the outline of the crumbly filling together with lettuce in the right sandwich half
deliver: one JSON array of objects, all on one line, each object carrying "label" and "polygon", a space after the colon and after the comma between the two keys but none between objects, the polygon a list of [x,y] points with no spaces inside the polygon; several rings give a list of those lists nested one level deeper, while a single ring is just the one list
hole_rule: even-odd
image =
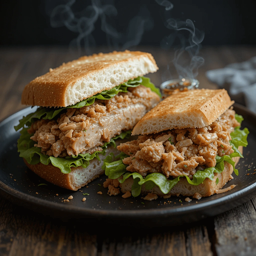
[{"label": "crumbly filling together with lettuce in the right sandwich half", "polygon": [[117,147],[120,160],[115,161],[113,155],[104,159],[102,168],[108,179],[103,185],[110,195],[117,195],[119,186],[131,177],[131,192],[136,197],[143,184],[146,190],[158,186],[168,194],[180,178],[191,185],[199,185],[206,178],[213,180],[214,173],[224,170],[224,162],[238,175],[232,158],[243,157],[238,147],[248,145],[249,134],[247,128],[240,129],[242,120],[231,107],[209,126],[172,129],[121,143]]}]

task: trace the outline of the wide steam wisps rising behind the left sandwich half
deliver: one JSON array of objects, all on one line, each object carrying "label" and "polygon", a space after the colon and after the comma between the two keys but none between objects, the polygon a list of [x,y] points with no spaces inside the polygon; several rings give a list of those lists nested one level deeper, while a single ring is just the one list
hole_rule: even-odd
[{"label": "wide steam wisps rising behind the left sandwich half", "polygon": [[[92,32],[95,23],[100,19],[101,30],[106,34],[106,41],[110,49],[125,50],[140,43],[145,30],[153,27],[150,13],[143,6],[138,15],[133,17],[127,26],[127,31],[117,31],[113,24],[113,17],[118,12],[113,4],[101,4],[100,0],[91,0],[91,5],[79,13],[74,13],[72,6],[76,0],[56,6],[51,12],[51,26],[54,28],[65,26],[72,32],[78,33],[77,38],[70,42],[70,47],[78,49],[81,55],[83,47],[86,54],[91,54],[90,46],[96,45]],[[112,3],[113,1],[108,1]]]}]

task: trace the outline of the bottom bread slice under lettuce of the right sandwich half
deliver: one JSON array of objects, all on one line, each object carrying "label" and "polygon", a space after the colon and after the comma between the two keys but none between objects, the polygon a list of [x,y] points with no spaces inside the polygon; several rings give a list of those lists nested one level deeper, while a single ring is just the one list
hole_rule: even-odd
[{"label": "bottom bread slice under lettuce of the right sandwich half", "polygon": [[[240,146],[238,150],[242,153],[243,147]],[[240,157],[234,157],[233,161],[238,163]],[[235,165],[236,165],[235,164]],[[233,166],[227,162],[224,162],[224,170],[222,173],[214,173],[213,180],[206,178],[204,183],[201,183],[197,186],[190,185],[187,182],[186,178],[180,178],[180,181],[170,190],[168,194],[163,194],[158,186],[153,187],[151,190],[145,189],[145,184],[141,186],[141,193],[154,193],[158,196],[166,196],[166,195],[177,195],[181,194],[183,196],[193,196],[195,193],[201,194],[202,197],[211,196],[216,193],[217,190],[221,189],[231,178],[231,174],[233,173]],[[218,184],[216,184],[216,179],[219,179]],[[120,184],[121,191],[126,193],[127,191],[131,192],[133,184],[133,178],[129,177],[124,181],[123,184]]]}]

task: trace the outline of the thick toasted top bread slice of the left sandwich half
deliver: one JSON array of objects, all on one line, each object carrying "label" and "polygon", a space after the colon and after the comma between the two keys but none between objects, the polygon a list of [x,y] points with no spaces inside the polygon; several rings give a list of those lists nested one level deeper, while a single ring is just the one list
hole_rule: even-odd
[{"label": "thick toasted top bread slice of the left sandwich half", "polygon": [[83,56],[27,84],[22,104],[66,107],[157,70],[153,56],[146,52],[126,50]]}]

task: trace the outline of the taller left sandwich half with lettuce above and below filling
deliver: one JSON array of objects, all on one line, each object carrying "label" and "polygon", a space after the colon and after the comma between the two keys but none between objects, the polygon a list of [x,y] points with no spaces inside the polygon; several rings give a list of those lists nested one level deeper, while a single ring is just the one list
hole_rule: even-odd
[{"label": "taller left sandwich half with lettuce above and below filling", "polygon": [[[160,101],[147,73],[158,70],[140,51],[84,56],[27,84],[22,104],[38,106],[15,126],[19,156],[41,178],[77,190],[103,174],[117,139]],[[113,153],[114,154],[114,153]]]}]

